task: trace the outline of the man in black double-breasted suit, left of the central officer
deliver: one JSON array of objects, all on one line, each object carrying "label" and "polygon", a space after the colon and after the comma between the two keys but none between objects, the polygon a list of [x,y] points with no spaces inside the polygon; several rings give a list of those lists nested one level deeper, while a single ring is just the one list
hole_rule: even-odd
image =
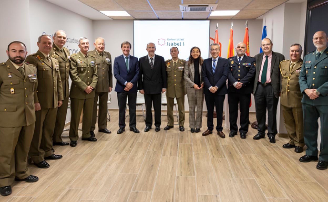
[{"label": "man in black double-breasted suit, left of the central officer", "polygon": [[139,59],[140,77],[138,89],[145,97],[145,132],[148,132],[153,125],[152,102],[154,105],[155,131],[158,132],[160,130],[159,126],[161,125],[161,93],[164,93],[167,88],[166,68],[164,58],[160,55],[155,55],[155,44],[148,43],[146,47],[148,55]]}]

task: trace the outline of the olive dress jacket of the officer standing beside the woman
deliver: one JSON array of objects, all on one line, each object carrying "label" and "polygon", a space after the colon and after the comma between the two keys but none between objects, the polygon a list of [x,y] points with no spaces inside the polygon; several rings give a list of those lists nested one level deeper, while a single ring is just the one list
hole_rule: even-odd
[{"label": "olive dress jacket of the officer standing beside the woman", "polygon": [[174,67],[172,59],[165,61],[167,74],[166,97],[175,98],[176,96],[180,98],[186,95],[186,84],[183,78],[185,64],[185,60],[178,59]]}]

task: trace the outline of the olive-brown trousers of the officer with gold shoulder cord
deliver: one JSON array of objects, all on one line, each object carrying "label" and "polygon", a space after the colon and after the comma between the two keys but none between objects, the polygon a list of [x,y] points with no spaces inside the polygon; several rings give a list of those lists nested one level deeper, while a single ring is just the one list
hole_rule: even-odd
[{"label": "olive-brown trousers of the officer with gold shoulder cord", "polygon": [[280,105],[284,117],[285,127],[289,137],[289,144],[304,147],[303,111],[302,107],[286,107]]}]

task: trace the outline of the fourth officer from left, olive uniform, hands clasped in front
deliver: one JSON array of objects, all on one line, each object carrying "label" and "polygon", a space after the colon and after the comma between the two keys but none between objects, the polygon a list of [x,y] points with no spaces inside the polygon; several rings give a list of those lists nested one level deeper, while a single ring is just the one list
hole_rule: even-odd
[{"label": "fourth officer from left, olive uniform, hands clasped in front", "polygon": [[90,135],[94,89],[98,81],[97,68],[94,57],[88,54],[89,40],[86,37],[79,39],[79,48],[80,52],[71,56],[71,147],[76,147],[76,140],[79,138],[78,126],[82,109],[82,140],[97,141]]}]

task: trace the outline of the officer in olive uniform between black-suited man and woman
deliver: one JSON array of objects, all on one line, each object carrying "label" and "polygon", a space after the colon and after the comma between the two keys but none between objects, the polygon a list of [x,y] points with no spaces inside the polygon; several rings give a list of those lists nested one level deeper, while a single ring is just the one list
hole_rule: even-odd
[{"label": "officer in olive uniform between black-suited man and woman", "polygon": [[186,95],[186,86],[183,74],[186,61],[178,58],[179,50],[177,47],[172,47],[170,53],[172,59],[165,61],[167,73],[167,126],[164,127],[164,130],[173,128],[173,105],[174,98],[176,98],[179,110],[179,130],[184,131],[184,97]]}]

